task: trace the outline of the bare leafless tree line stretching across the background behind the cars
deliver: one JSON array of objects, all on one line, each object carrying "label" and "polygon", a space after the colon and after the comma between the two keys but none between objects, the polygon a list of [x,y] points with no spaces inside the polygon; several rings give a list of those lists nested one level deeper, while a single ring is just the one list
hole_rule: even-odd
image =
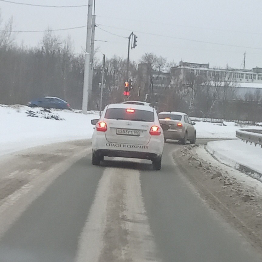
[{"label": "bare leafless tree line stretching across the background behind the cars", "polygon": [[[0,104],[26,104],[34,98],[57,96],[68,101],[73,108],[81,108],[84,55],[73,52],[70,37],[61,39],[48,30],[43,34],[39,46],[27,48],[14,43],[12,19],[4,26],[0,25],[0,28],[4,29],[0,34]],[[96,57],[93,61],[90,103],[90,109],[94,110],[99,108],[102,71],[101,61]],[[147,90],[141,90],[140,97],[138,63],[148,66],[145,76],[148,80]],[[161,90],[157,90],[153,75],[158,77],[162,72],[170,72],[175,63],[153,53],[145,53],[138,63],[131,60],[129,64],[129,78],[133,80],[129,99],[148,100],[159,111],[183,111],[198,117],[225,118],[229,110],[232,114],[237,111],[226,102],[237,99],[237,84],[226,73],[223,77],[215,77],[212,84],[207,76],[190,72],[184,75],[183,80],[172,75],[172,78],[163,82]],[[127,60],[114,56],[106,60],[105,67],[103,106],[127,99],[123,96]],[[261,95],[247,93],[245,100],[261,104]]]}]

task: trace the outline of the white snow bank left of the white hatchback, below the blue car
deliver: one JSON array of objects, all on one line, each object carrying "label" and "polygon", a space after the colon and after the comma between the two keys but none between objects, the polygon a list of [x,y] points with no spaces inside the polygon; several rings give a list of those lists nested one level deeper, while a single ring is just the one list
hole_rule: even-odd
[{"label": "white snow bank left of the white hatchback, below the blue car", "polygon": [[[0,105],[0,155],[56,142],[91,138],[97,114],[52,110],[65,121],[27,117],[26,106]],[[35,109],[33,109],[35,110]]]}]

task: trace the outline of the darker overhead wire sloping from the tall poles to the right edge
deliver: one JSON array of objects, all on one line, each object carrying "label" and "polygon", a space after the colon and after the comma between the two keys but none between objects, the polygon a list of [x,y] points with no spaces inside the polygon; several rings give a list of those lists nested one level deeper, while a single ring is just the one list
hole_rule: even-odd
[{"label": "darker overhead wire sloping from the tall poles to the right edge", "polygon": [[[99,26],[106,26],[106,25],[99,25]],[[188,38],[182,38],[182,37],[175,37],[175,36],[165,36],[165,35],[160,35],[160,34],[154,34],[154,33],[149,33],[149,32],[142,32],[142,31],[137,31],[137,30],[130,30],[130,29],[124,29],[124,28],[119,28],[119,27],[114,27],[114,26],[106,26],[110,28],[115,28],[115,29],[121,29],[125,31],[135,31],[141,34],[147,34],[151,36],[161,36],[161,37],[167,37],[167,38],[172,38],[172,39],[179,39],[179,40],[186,40],[186,41],[192,41],[192,42],[198,42],[198,43],[206,43],[206,44],[213,44],[213,45],[220,45],[220,46],[230,46],[230,47],[240,47],[240,48],[249,48],[249,49],[259,49],[262,50],[260,47],[250,47],[250,46],[238,46],[238,45],[230,45],[230,44],[223,44],[223,43],[215,43],[215,42],[208,42],[208,41],[202,41],[202,40],[196,40],[196,39],[188,39]],[[99,27],[101,30],[101,27]],[[104,30],[105,31],[105,30]],[[106,31],[108,32],[108,31]],[[111,33],[111,32],[108,32]],[[113,33],[111,33],[113,34]]]}]

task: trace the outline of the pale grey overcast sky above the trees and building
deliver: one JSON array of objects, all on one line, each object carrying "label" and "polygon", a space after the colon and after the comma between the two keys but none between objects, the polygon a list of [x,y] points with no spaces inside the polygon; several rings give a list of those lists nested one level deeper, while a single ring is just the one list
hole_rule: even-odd
[{"label": "pale grey overcast sky above the trees and building", "polygon": [[[83,5],[88,0],[12,0],[39,5]],[[84,26],[87,7],[47,8],[0,2],[2,19],[14,19],[14,30],[45,30]],[[262,67],[261,0],[96,0],[96,22],[111,33],[138,36],[132,60],[146,52],[167,57],[169,61],[210,63],[210,66],[243,68]],[[120,28],[120,29],[117,29]],[[150,34],[149,34],[150,33]],[[85,48],[86,29],[56,32],[61,38],[70,35],[75,53]],[[157,34],[162,36],[154,36]],[[43,33],[19,33],[16,42],[36,46]],[[179,39],[180,38],[180,39]],[[107,57],[127,56],[128,40],[96,28],[100,51]],[[184,40],[191,39],[191,40]],[[196,40],[196,41],[192,41]],[[224,45],[201,43],[205,41]],[[232,46],[226,46],[232,45]],[[237,47],[243,46],[243,47]],[[257,49],[256,49],[257,48]],[[102,56],[102,55],[100,55]]]}]

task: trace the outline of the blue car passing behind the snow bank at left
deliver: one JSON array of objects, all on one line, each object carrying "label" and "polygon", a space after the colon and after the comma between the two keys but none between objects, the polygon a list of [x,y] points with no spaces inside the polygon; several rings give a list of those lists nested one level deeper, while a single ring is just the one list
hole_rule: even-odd
[{"label": "blue car passing behind the snow bank at left", "polygon": [[43,97],[43,98],[31,100],[26,105],[29,107],[44,107],[44,108],[72,110],[69,103],[58,97]]}]

